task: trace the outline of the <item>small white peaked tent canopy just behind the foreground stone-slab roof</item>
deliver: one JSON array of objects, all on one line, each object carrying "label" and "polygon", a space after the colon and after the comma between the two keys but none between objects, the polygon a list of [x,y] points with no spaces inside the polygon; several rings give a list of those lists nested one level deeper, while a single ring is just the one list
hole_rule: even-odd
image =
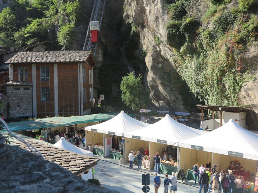
[{"label": "small white peaked tent canopy just behind the foreground stone-slab roof", "polygon": [[76,147],[75,145],[71,144],[70,142],[66,141],[66,139],[64,137],[61,137],[61,139],[55,143],[53,146],[56,147],[60,147],[63,148],[65,150],[74,152],[74,153],[78,153],[78,154],[82,154],[82,155],[88,155],[88,156],[93,156],[92,152],[90,151],[86,151],[84,149],[81,149],[79,147]]}]

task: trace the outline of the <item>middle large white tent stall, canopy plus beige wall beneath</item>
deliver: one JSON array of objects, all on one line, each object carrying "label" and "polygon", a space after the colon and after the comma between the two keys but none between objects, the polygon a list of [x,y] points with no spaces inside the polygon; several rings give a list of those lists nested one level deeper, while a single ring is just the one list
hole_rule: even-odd
[{"label": "middle large white tent stall, canopy plus beige wall beneath", "polygon": [[149,143],[150,169],[152,169],[154,168],[153,157],[156,152],[159,152],[162,159],[162,153],[166,151],[169,156],[167,158],[168,161],[179,162],[177,159],[179,154],[178,142],[204,133],[206,131],[188,127],[166,115],[163,119],[148,127],[124,133],[124,136],[132,138],[132,140],[141,140]]}]

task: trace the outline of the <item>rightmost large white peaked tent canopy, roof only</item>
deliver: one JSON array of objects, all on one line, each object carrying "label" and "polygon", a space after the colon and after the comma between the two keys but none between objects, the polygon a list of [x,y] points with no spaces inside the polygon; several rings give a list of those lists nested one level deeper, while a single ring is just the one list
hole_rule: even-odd
[{"label": "rightmost large white peaked tent canopy, roof only", "polygon": [[[221,138],[225,138],[223,143]],[[233,119],[204,135],[181,141],[179,146],[258,160],[258,135],[240,127]]]}]

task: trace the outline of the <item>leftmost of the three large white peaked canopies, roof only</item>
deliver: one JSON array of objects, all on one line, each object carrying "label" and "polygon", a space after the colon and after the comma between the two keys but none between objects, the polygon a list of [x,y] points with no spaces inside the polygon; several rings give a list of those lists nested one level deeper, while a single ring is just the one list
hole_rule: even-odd
[{"label": "leftmost of the three large white peaked canopies, roof only", "polygon": [[123,133],[135,131],[150,124],[138,121],[128,116],[124,111],[121,111],[117,116],[103,123],[84,127],[87,131],[95,131],[98,133],[105,133],[117,136],[123,136]]}]

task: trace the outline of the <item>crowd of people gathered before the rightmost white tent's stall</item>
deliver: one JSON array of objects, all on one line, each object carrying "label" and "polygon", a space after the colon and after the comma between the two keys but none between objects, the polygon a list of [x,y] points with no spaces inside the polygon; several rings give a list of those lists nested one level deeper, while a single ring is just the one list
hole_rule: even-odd
[{"label": "crowd of people gathered before the rightmost white tent's stall", "polygon": [[[211,163],[209,161],[206,164],[206,168],[204,167],[204,164],[201,164],[199,167],[198,163],[193,166],[195,184],[197,184],[197,176],[199,177],[199,193],[201,193],[203,188],[204,193],[207,193],[210,190],[212,190],[212,193],[217,193],[219,190],[223,193],[233,193],[235,184],[237,193],[243,192],[243,187],[245,185],[243,177],[245,176],[245,172],[242,166],[237,171],[234,163],[231,163],[227,168],[227,170],[229,170],[228,175],[226,175],[225,170],[221,170],[221,172],[219,172],[216,168],[217,165],[215,164],[211,168]],[[239,175],[237,180],[235,180],[235,176],[233,174]]]}]

